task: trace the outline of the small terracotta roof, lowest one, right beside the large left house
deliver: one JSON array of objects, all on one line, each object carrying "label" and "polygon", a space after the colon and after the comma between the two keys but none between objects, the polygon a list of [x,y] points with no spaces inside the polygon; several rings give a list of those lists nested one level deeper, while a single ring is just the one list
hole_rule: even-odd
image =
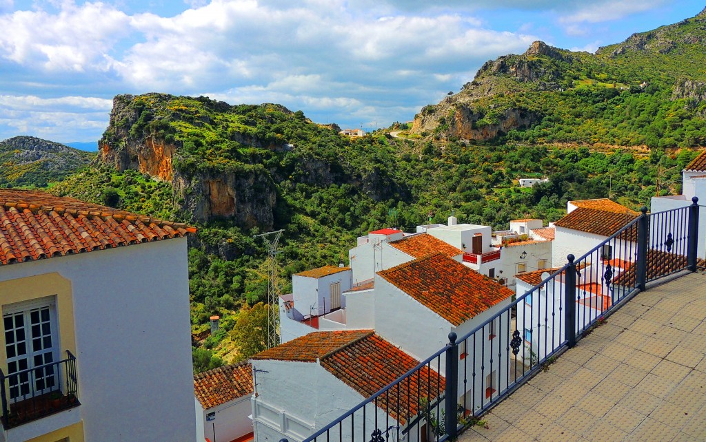
[{"label": "small terracotta roof, lowest one, right beside the large left house", "polygon": [[253,393],[253,368],[241,362],[193,376],[193,392],[204,410]]}]

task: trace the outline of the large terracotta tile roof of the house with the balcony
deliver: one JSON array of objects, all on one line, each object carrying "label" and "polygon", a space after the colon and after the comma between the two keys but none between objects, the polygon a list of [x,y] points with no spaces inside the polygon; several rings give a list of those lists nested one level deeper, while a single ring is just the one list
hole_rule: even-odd
[{"label": "large terracotta tile roof of the house with the balcony", "polygon": [[0,189],[0,264],[92,252],[195,233],[152,219],[36,190]]}]

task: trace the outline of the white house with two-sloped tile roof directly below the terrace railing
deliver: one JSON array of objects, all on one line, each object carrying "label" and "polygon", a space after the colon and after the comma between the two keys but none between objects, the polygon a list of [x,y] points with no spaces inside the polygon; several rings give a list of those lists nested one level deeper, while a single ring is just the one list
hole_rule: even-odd
[{"label": "white house with two-sloped tile roof directly below the terrace railing", "polygon": [[[290,340],[251,358],[255,393],[252,396],[255,440],[302,441],[329,424],[419,364],[419,361],[371,330],[319,331]],[[410,385],[432,386],[443,391],[445,381],[433,369],[412,375]],[[437,388],[433,388],[438,386]],[[397,397],[400,394],[400,397]],[[432,393],[429,400],[435,400]],[[393,389],[390,404],[409,404],[409,413],[397,416],[388,402],[366,409],[366,434],[362,417],[354,429],[347,424],[343,434],[333,429],[331,440],[368,440],[371,432],[405,425],[419,414],[419,392],[415,388]],[[388,416],[388,412],[390,415]],[[383,422],[378,424],[376,422]],[[395,430],[396,431],[396,430]],[[407,440],[415,441],[416,435]]]}]

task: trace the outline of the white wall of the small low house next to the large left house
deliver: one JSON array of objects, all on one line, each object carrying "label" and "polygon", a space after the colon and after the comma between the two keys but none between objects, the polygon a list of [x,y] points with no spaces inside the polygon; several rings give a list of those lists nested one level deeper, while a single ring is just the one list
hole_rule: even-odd
[{"label": "white wall of the small low house next to the large left house", "polygon": [[[211,442],[234,441],[253,432],[251,395],[241,396],[217,407],[204,410],[196,400],[196,426]],[[214,413],[213,420],[208,422],[206,416]],[[214,435],[215,433],[215,435]],[[201,441],[203,439],[199,439]]]}]

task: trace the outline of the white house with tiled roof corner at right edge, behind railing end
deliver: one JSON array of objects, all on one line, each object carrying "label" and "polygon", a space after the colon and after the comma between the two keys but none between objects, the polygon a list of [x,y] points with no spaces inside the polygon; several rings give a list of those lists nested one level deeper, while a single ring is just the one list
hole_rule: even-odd
[{"label": "white house with tiled roof corner at right edge, behind railing end", "polygon": [[[652,197],[652,213],[688,206],[693,197],[698,197],[700,204],[706,204],[706,149],[701,152],[681,172],[681,195]],[[699,240],[697,256],[706,258],[706,209],[699,208]]]}]

